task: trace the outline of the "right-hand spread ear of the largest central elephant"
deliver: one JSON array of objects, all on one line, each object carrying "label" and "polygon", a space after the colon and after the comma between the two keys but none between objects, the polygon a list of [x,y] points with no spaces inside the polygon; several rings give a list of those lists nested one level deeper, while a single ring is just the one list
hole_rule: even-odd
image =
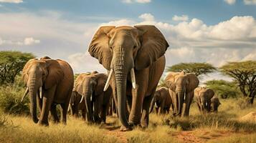
[{"label": "right-hand spread ear of the largest central elephant", "polygon": [[156,26],[134,26],[140,35],[141,48],[138,50],[135,66],[137,70],[144,69],[165,54],[169,44]]}]

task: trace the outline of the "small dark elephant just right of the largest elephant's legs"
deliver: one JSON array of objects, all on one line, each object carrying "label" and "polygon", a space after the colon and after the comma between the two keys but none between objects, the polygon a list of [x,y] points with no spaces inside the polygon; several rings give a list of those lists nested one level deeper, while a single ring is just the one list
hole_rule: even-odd
[{"label": "small dark elephant just right of the largest elephant's legs", "polygon": [[159,89],[156,89],[156,93],[151,101],[150,112],[153,111],[154,105],[156,105],[156,113],[158,114],[169,113],[170,107],[174,109],[169,89],[167,87],[160,87]]}]

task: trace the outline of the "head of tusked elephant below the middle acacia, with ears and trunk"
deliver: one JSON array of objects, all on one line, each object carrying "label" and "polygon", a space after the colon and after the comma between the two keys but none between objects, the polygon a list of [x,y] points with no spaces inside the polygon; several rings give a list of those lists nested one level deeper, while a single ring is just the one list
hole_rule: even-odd
[{"label": "head of tusked elephant below the middle acacia, with ears and trunk", "polygon": [[169,86],[169,89],[176,94],[175,97],[177,99],[174,100],[177,102],[174,104],[174,109],[178,112],[176,115],[180,115],[187,94],[194,92],[194,89],[196,89],[199,84],[199,79],[195,74],[185,74],[184,71],[181,71],[170,72],[165,82]]}]

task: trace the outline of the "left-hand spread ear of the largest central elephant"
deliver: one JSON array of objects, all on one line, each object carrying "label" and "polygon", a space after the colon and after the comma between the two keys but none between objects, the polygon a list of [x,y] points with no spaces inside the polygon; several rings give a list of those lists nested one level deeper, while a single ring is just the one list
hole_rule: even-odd
[{"label": "left-hand spread ear of the largest central elephant", "polygon": [[105,69],[108,70],[110,70],[110,64],[113,57],[108,45],[108,32],[114,28],[115,26],[101,26],[93,36],[88,49],[90,55],[98,59],[100,64],[103,64]]}]

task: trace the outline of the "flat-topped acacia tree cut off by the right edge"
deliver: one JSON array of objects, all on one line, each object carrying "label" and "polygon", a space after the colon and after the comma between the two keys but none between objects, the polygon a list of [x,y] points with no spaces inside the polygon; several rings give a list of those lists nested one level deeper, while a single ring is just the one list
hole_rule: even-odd
[{"label": "flat-topped acacia tree cut off by the right edge", "polygon": [[248,103],[253,104],[256,94],[256,61],[228,62],[219,69],[239,84],[243,96],[249,99]]}]

